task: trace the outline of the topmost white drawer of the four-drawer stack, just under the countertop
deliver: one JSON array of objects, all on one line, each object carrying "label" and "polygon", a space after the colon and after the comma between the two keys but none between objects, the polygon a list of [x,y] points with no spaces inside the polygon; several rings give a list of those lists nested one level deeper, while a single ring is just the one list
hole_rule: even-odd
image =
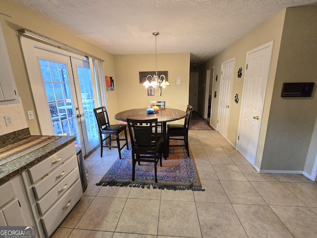
[{"label": "topmost white drawer of the four-drawer stack, just under the countertop", "polygon": [[75,146],[72,143],[65,148],[57,151],[49,158],[33,166],[28,170],[31,182],[34,183],[37,180],[41,179],[43,176],[55,169],[57,166],[61,165],[65,160],[73,155],[76,155],[76,151]]}]

